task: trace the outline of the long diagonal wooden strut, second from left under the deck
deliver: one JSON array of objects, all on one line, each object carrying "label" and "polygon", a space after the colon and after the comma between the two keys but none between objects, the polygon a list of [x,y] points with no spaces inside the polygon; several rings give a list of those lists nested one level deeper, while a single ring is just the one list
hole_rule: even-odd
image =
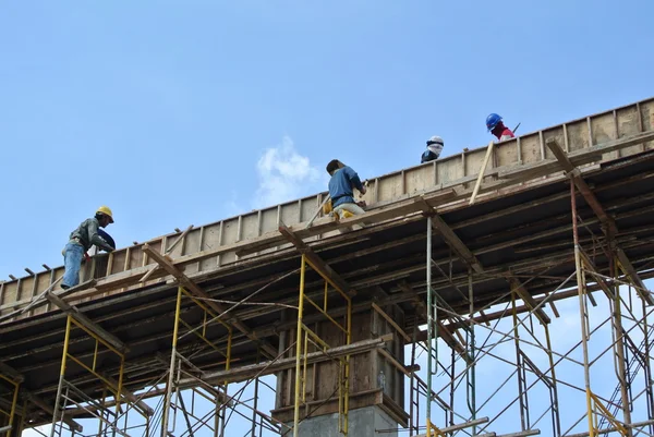
[{"label": "long diagonal wooden strut, second from left under the deck", "polygon": [[[207,294],[203,289],[201,289],[195,282],[193,282],[186,275],[184,275],[172,263],[172,260],[170,258],[168,258],[168,257],[161,255],[160,253],[158,253],[157,251],[153,250],[148,244],[143,246],[143,252],[148,254],[149,257],[152,259],[154,259],[155,262],[157,262],[169,275],[172,275],[180,282],[180,284],[184,289],[186,289],[190,293],[194,294],[197,298],[205,299],[206,304],[208,306],[210,306],[216,313],[221,314],[227,311],[227,308],[225,306],[222,306],[221,304],[211,302],[211,296],[209,294]],[[250,340],[254,341],[255,343],[259,343],[262,350],[266,354],[268,354],[270,356],[277,355],[277,350],[271,344],[257,338],[254,335],[254,332],[252,331],[252,329],[250,327],[247,327],[243,321],[241,321],[233,314],[228,314],[226,316],[226,320],[223,320],[223,321],[232,325],[234,328],[237,328],[238,330],[243,332]]]}]

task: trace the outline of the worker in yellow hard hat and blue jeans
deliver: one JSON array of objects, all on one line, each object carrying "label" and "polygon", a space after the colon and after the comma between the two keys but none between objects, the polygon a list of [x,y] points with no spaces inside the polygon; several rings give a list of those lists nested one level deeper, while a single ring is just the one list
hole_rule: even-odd
[{"label": "worker in yellow hard hat and blue jeans", "polygon": [[70,240],[63,248],[64,272],[61,281],[62,289],[75,287],[80,282],[80,268],[86,251],[94,244],[102,251],[111,252],[116,247],[100,236],[99,228],[113,223],[113,214],[107,206],[100,206],[95,217],[84,220],[77,229],[71,232]]}]

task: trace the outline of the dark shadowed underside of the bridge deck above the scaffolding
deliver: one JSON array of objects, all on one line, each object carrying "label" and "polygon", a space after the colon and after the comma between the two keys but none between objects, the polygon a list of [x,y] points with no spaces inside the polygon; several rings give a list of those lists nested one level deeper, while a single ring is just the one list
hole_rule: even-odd
[{"label": "dark shadowed underside of the bridge deck above the scaffolding", "polygon": [[[585,181],[604,209],[615,219],[619,233],[616,242],[625,251],[642,278],[654,276],[654,151],[643,151],[607,161],[589,169]],[[578,196],[582,219],[581,243],[594,257],[600,271],[607,272],[608,258],[602,251],[602,223]],[[533,296],[543,295],[574,271],[572,219],[569,180],[564,175],[541,184],[512,187],[492,199],[473,206],[460,204],[439,215],[445,223],[474,254],[481,270],[474,272],[474,301],[479,306],[507,302],[510,280],[519,280]],[[354,308],[366,311],[373,299],[397,303],[405,314],[409,329],[416,320],[414,294],[425,296],[426,220],[420,213],[389,219],[311,243],[313,250],[356,290]],[[434,287],[460,314],[469,312],[469,265],[460,259],[438,232],[433,239]],[[295,305],[299,253],[290,247],[275,253],[243,258],[193,277],[214,299],[240,301],[262,287],[252,302]],[[441,271],[440,271],[441,270]],[[513,278],[513,279],[510,279]],[[277,280],[278,279],[278,280]],[[320,293],[322,280],[310,272],[310,293]],[[574,286],[574,280],[569,282]],[[570,293],[570,295],[574,295]],[[76,306],[92,320],[126,343],[124,383],[131,391],[144,388],[167,368],[171,351],[177,283],[169,279],[107,298],[96,296]],[[229,305],[228,305],[229,306]],[[239,306],[233,313],[254,335],[272,348],[278,332],[294,325],[281,321],[282,306]],[[334,307],[332,311],[338,311]],[[182,307],[184,319],[201,323],[195,305]],[[308,313],[311,314],[311,313]],[[493,314],[486,314],[493,317]],[[58,311],[0,326],[0,356],[25,377],[23,387],[52,404],[61,366],[65,315]],[[226,339],[220,324],[208,328],[207,337]],[[253,363],[257,343],[237,332],[232,343],[232,367]],[[95,341],[74,330],[70,350],[76,356],[90,356]],[[194,352],[194,364],[203,371],[221,368],[220,354],[203,348],[201,340],[186,336],[178,345]],[[112,354],[100,354],[98,372],[117,378],[119,362]],[[66,379],[93,398],[101,394],[101,385],[78,366],[71,365]],[[44,412],[34,420],[49,421]]]}]

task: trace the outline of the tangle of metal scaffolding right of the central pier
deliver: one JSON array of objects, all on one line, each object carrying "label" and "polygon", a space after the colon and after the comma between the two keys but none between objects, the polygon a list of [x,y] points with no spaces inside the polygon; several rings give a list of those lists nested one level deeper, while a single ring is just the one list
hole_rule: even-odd
[{"label": "tangle of metal scaffolding right of the central pier", "polygon": [[[579,183],[579,182],[577,182]],[[588,196],[588,193],[583,193],[584,197]],[[474,396],[474,384],[471,383],[471,377],[469,376],[469,372],[474,369],[475,364],[479,363],[483,356],[494,357],[498,361],[504,362],[505,364],[509,364],[514,366],[514,371],[509,377],[504,380],[500,386],[486,399],[481,403],[479,410],[483,409],[492,399],[497,398],[497,392],[502,389],[511,380],[514,378],[518,385],[518,396],[509,402],[509,404],[502,409],[495,417],[491,418],[486,422],[486,424],[480,429],[481,433],[487,432],[488,427],[498,420],[502,414],[505,414],[509,408],[511,408],[514,403],[519,405],[519,417],[520,417],[520,427],[521,432],[511,434],[511,436],[523,436],[523,435],[533,435],[540,433],[538,429],[534,428],[538,424],[538,422],[549,413],[552,416],[552,432],[555,436],[574,436],[574,437],[596,437],[600,435],[608,434],[608,433],[618,433],[623,437],[632,437],[635,434],[644,434],[644,435],[654,435],[654,399],[653,399],[653,390],[652,385],[647,383],[651,380],[652,368],[651,368],[651,350],[652,350],[652,339],[651,331],[652,326],[647,320],[647,317],[654,309],[647,309],[647,296],[651,292],[646,289],[643,289],[642,282],[637,281],[633,277],[633,269],[629,268],[625,265],[625,262],[620,259],[616,253],[618,253],[615,244],[611,242],[610,234],[607,234],[606,239],[602,241],[602,239],[596,238],[596,235],[592,235],[591,242],[593,243],[593,253],[601,251],[604,255],[606,255],[609,260],[609,275],[604,276],[601,275],[596,267],[592,262],[592,256],[589,255],[580,243],[579,238],[579,228],[585,227],[583,220],[578,216],[577,213],[577,203],[576,203],[576,181],[570,181],[570,202],[571,202],[571,216],[572,216],[572,240],[573,240],[573,254],[574,254],[574,271],[571,276],[566,278],[564,282],[556,288],[556,290],[552,292],[546,292],[544,298],[540,299],[540,302],[536,302],[529,294],[524,295],[522,293],[524,284],[528,281],[512,282],[510,290],[507,294],[498,298],[494,302],[484,305],[484,307],[474,307],[473,306],[473,292],[472,292],[472,271],[469,270],[469,291],[470,291],[470,312],[468,314],[469,320],[458,320],[457,328],[455,329],[455,333],[459,330],[463,329],[465,331],[465,336],[458,335],[459,339],[463,340],[462,343],[465,345],[468,352],[471,352],[472,363],[467,366],[463,372],[460,372],[458,375],[456,374],[456,362],[457,357],[461,357],[460,351],[456,351],[452,348],[452,362],[447,368],[439,360],[438,360],[438,338],[443,338],[439,329],[443,330],[443,325],[438,324],[439,318],[444,319],[447,317],[451,317],[452,319],[460,318],[459,314],[453,312],[448,305],[439,300],[437,292],[433,289],[432,284],[432,267],[437,264],[431,262],[431,251],[432,251],[432,218],[427,217],[427,266],[426,266],[426,295],[427,295],[427,387],[425,390],[421,390],[419,385],[415,385],[417,380],[417,376],[411,375],[410,380],[410,409],[411,415],[415,414],[415,412],[420,411],[419,402],[414,400],[413,392],[417,394],[424,394],[427,399],[427,417],[426,417],[426,435],[431,436],[444,436],[444,429],[437,427],[431,418],[431,404],[436,402],[438,406],[440,406],[446,413],[446,424],[452,423],[453,416],[458,416],[461,420],[471,422],[475,420],[475,413],[477,411],[474,401],[471,402],[471,393]],[[595,211],[596,213],[596,211]],[[586,228],[588,231],[592,234],[592,230]],[[605,228],[603,228],[605,230]],[[605,232],[606,233],[606,232]],[[588,241],[588,240],[586,240]],[[597,247],[600,246],[600,247]],[[622,258],[623,259],[623,258]],[[462,259],[463,260],[463,259]],[[468,259],[465,259],[468,262]],[[627,260],[628,263],[628,260]],[[440,269],[438,267],[438,269]],[[441,270],[443,272],[443,270]],[[444,276],[445,272],[443,272]],[[542,272],[543,275],[546,272]],[[534,275],[532,278],[535,278],[540,274]],[[572,347],[565,354],[555,352],[553,350],[553,343],[549,333],[548,319],[543,318],[542,311],[545,304],[549,304],[553,312],[558,317],[558,311],[556,306],[554,306],[554,296],[557,292],[565,290],[566,284],[572,279],[576,278],[576,286],[579,299],[579,317],[580,317],[580,327],[581,327],[581,340]],[[598,326],[594,329],[591,329],[590,320],[589,320],[589,303],[596,306],[595,298],[593,298],[592,293],[589,291],[590,286],[589,282],[594,283],[593,288],[595,290],[601,290],[607,298],[608,307],[610,315],[601,320]],[[625,301],[623,295],[621,295],[620,287],[629,288],[629,302]],[[460,291],[460,290],[459,290]],[[632,296],[637,295],[640,298],[641,302],[641,312],[642,315],[638,316],[634,314],[633,305],[632,305]],[[502,332],[497,328],[497,324],[495,328],[491,328],[489,326],[484,326],[484,321],[487,323],[486,315],[484,315],[484,311],[491,308],[494,304],[497,304],[500,300],[506,300],[508,296],[509,302],[501,314],[496,317],[497,324],[509,316],[512,319],[512,327],[510,331]],[[524,303],[525,309],[522,309],[522,313],[526,313],[526,316],[520,318],[518,315],[520,312],[518,311],[518,301],[521,300]],[[480,316],[475,317],[475,313],[480,314]],[[627,314],[625,314],[627,313]],[[534,331],[534,319],[537,319],[543,326],[543,335],[544,340],[538,339]],[[630,321],[631,327],[626,328],[623,326],[623,321]],[[489,333],[486,338],[486,341],[483,342],[482,345],[479,347],[479,356],[474,355],[475,352],[475,342],[474,342],[474,327],[480,326],[488,329]],[[608,348],[604,349],[597,356],[592,357],[589,353],[589,342],[591,336],[595,333],[600,328],[608,326],[610,327],[611,332],[611,342]],[[529,332],[530,340],[522,338],[520,331],[524,330]],[[641,341],[637,341],[633,338],[632,331],[637,331],[639,337],[642,337]],[[502,338],[493,343],[487,344],[491,335],[501,335]],[[516,351],[514,362],[507,360],[504,356],[498,356],[494,354],[492,351],[497,345],[506,342],[507,340],[512,340]],[[413,336],[414,344],[412,347],[411,353],[411,366],[415,365],[416,360],[416,331],[414,327],[414,336]],[[447,341],[446,341],[447,342]],[[538,366],[530,359],[530,355],[522,350],[522,344],[528,344],[531,348],[537,348],[544,351],[547,355],[548,368],[541,369]],[[570,359],[569,355],[573,351],[578,351],[581,347],[583,360],[581,362]],[[617,386],[614,390],[614,394],[610,399],[606,399],[601,397],[597,392],[593,391],[591,388],[591,379],[590,379],[590,371],[593,364],[597,363],[607,352],[613,351],[613,362],[614,362],[614,371],[617,379]],[[557,360],[555,361],[555,356]],[[631,357],[631,359],[630,359]],[[584,374],[584,387],[581,388],[574,383],[569,383],[562,379],[557,378],[556,368],[557,365],[564,361],[573,362],[576,365],[583,367]],[[433,387],[433,377],[436,374],[436,369],[438,367],[443,368],[443,373],[447,374],[450,377],[449,384],[445,385],[440,390],[434,393]],[[535,380],[532,384],[528,383],[528,374],[534,375]],[[632,383],[635,378],[640,377],[644,378],[644,388],[639,393],[633,393]],[[453,396],[455,391],[458,387],[458,381],[461,384],[465,381],[467,392],[468,392],[468,405],[470,410],[470,416],[465,414],[456,413],[453,411]],[[533,417],[530,414],[533,414],[533,410],[530,409],[529,405],[529,397],[528,393],[530,390],[536,385],[536,383],[543,383],[546,389],[549,391],[549,400],[550,406],[547,408],[536,420],[535,422],[532,420]],[[558,386],[562,385],[566,388],[573,388],[577,390],[581,390],[585,397],[585,410],[586,412],[566,432],[561,428],[561,417],[560,417],[560,405],[559,405],[559,394],[558,394]],[[439,394],[445,391],[447,388],[450,388],[450,403],[443,401]],[[429,394],[427,394],[429,393]],[[631,413],[633,411],[633,405],[638,401],[640,397],[644,397],[644,403],[646,405],[646,412],[649,415],[649,421],[642,421],[634,423],[631,417]],[[621,411],[622,417],[617,418],[617,413]],[[449,421],[448,421],[449,413]],[[579,425],[579,423],[583,418],[588,420],[588,430],[581,434],[571,435],[570,432]],[[468,423],[467,422],[467,423]],[[644,430],[644,428],[649,428],[649,433]],[[416,435],[419,432],[419,427],[412,422],[409,426],[409,433],[411,436]],[[472,435],[476,435],[476,429],[472,430]]]}]

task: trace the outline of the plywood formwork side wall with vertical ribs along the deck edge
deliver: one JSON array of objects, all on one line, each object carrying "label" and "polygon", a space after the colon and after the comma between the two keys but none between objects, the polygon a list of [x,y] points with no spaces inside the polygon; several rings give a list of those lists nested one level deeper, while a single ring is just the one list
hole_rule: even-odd
[{"label": "plywood formwork side wall with vertical ribs along the deck edge", "polygon": [[[513,183],[511,174],[526,172],[535,166],[542,165],[544,170],[538,170],[538,178],[554,178],[560,174],[560,167],[545,147],[545,141],[549,137],[556,137],[559,144],[565,146],[566,151],[574,154],[583,153],[591,146],[602,145],[616,138],[625,138],[635,134],[650,133],[654,131],[654,99],[643,100],[637,104],[628,105],[600,114],[590,116],[569,123],[560,124],[523,135],[517,139],[502,142],[494,147],[493,159],[486,169],[489,173],[484,179],[484,184],[491,182],[506,184]],[[644,149],[654,148],[654,141],[651,138],[642,142],[632,142],[626,147],[613,147],[610,154],[605,154],[603,160],[613,159],[618,156],[629,156],[640,153]],[[481,162],[486,153],[486,147],[469,150],[463,154],[445,157],[436,161],[411,167],[401,171],[392,172],[386,175],[371,179],[368,193],[358,197],[365,199],[371,207],[380,207],[391,202],[399,202],[409,196],[429,192],[443,187],[457,187],[460,193],[465,193],[474,184],[476,174],[480,171]],[[590,156],[590,155],[589,155]],[[594,156],[594,155],[593,155]],[[583,166],[589,166],[600,158],[585,160]],[[534,173],[536,174],[536,173]],[[365,177],[365,175],[362,175]],[[528,178],[526,175],[524,178]],[[524,182],[524,181],[520,181]],[[516,181],[514,183],[520,183]],[[170,254],[172,259],[198,255],[192,263],[187,263],[182,268],[187,272],[208,271],[219,266],[226,266],[238,259],[235,252],[219,251],[220,247],[229,247],[239,241],[263,238],[275,233],[279,222],[286,224],[300,223],[310,220],[318,209],[325,193],[301,198],[290,203],[264,208],[232,217],[219,222],[210,223],[192,229],[185,236],[184,242],[175,245]],[[497,195],[500,195],[499,193]],[[339,233],[338,231],[325,230],[311,235],[311,239],[320,239]],[[165,253],[179,239],[182,232],[174,232],[148,241],[150,247],[159,253]],[[263,236],[259,236],[263,235]],[[279,247],[288,247],[286,242],[280,241],[272,246],[268,245],[256,254],[272,253]],[[143,245],[137,244],[126,248],[119,248],[113,253],[100,254],[94,257],[93,263],[86,263],[82,269],[82,278],[120,278],[125,271],[132,275],[141,272],[143,275],[155,267],[155,264],[142,251]],[[166,247],[162,250],[162,247]],[[207,253],[205,256],[204,253]],[[202,255],[202,256],[201,256]],[[147,266],[147,267],[145,267]],[[45,275],[48,277],[49,274]],[[55,269],[53,278],[63,275],[63,268]],[[38,280],[36,288],[31,287],[34,282],[24,286],[23,281],[28,281],[29,277],[21,280],[7,281],[0,292],[0,315],[7,315],[21,305],[26,305],[34,293],[39,294],[48,286],[49,281]],[[34,280],[34,279],[32,279]],[[160,275],[149,279],[146,284],[160,282]],[[143,283],[134,287],[142,287]],[[55,291],[59,291],[57,286]],[[102,290],[101,295],[119,293],[126,288]],[[31,314],[39,314],[41,308],[35,308]]]}]

